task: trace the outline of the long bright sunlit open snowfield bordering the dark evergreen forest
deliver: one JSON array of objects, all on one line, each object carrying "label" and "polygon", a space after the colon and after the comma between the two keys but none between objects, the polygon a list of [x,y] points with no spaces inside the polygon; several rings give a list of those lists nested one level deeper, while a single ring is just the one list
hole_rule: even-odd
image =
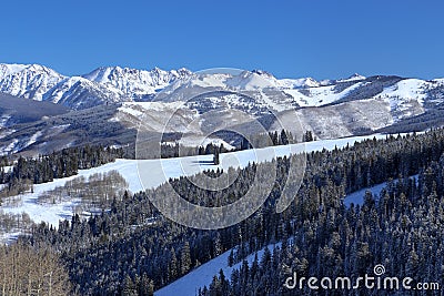
[{"label": "long bright sunlit open snowfield bordering the dark evergreen forest", "polygon": [[20,200],[17,206],[1,206],[4,213],[28,213],[30,218],[36,222],[46,222],[52,224],[54,227],[59,225],[59,220],[71,217],[73,210],[79,201],[72,200],[64,203],[56,204],[39,204],[38,196],[47,191],[51,191],[57,186],[63,186],[67,181],[73,180],[78,176],[89,177],[95,173],[107,173],[110,171],[118,171],[129,183],[129,190],[133,193],[143,191],[138,172],[138,162],[143,163],[143,169],[152,172],[149,181],[144,181],[145,188],[154,188],[165,182],[170,177],[190,176],[205,170],[216,170],[229,167],[245,167],[252,162],[271,161],[276,156],[290,155],[299,153],[305,149],[306,152],[321,151],[323,149],[333,150],[335,146],[344,147],[347,144],[353,145],[354,142],[363,141],[365,139],[383,139],[384,134],[374,134],[367,136],[352,136],[336,140],[321,140],[307,143],[299,143],[285,146],[272,146],[258,150],[245,150],[238,152],[222,153],[220,155],[220,165],[212,165],[212,155],[199,155],[176,159],[164,160],[117,160],[113,163],[108,163],[99,167],[89,170],[80,170],[78,175],[58,178],[49,183],[36,184],[33,193],[26,193],[11,198]]}]

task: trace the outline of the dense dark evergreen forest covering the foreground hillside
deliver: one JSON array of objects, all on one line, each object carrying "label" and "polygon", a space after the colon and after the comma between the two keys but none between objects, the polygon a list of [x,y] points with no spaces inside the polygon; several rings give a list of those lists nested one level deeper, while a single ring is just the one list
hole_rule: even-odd
[{"label": "dense dark evergreen forest covering the foreground hillside", "polygon": [[[275,242],[282,247],[265,252],[252,266],[244,262],[232,275],[214,277],[200,294],[295,295],[283,287],[292,272],[320,278],[354,276],[370,273],[376,264],[384,264],[389,275],[444,285],[443,152],[444,130],[434,130],[310,153],[302,187],[289,208],[278,214],[275,203],[289,166],[286,157],[280,159],[278,175],[269,176],[275,177],[275,186],[261,208],[218,231],[184,227],[162,216],[149,198],[162,196],[161,186],[132,196],[125,193],[114,198],[110,211],[89,220],[74,215],[58,229],[41,224],[20,241],[58,253],[73,289],[90,295],[151,295],[225,251],[233,251],[233,264]],[[240,182],[219,195],[193,188],[186,178],[172,183],[191,202],[231,203],[261,172],[259,165],[242,170]],[[408,178],[413,175],[417,181]],[[383,182],[387,187],[380,195],[366,194],[362,206],[344,206],[347,193]],[[356,295],[356,290],[335,293]],[[306,288],[296,294],[324,295]]]}]

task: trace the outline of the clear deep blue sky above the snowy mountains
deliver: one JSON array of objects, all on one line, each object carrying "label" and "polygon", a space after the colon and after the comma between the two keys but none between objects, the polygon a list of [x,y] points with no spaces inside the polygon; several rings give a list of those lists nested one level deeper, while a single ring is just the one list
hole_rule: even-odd
[{"label": "clear deep blue sky above the snowy mountains", "polygon": [[444,1],[2,1],[0,62],[444,76]]}]

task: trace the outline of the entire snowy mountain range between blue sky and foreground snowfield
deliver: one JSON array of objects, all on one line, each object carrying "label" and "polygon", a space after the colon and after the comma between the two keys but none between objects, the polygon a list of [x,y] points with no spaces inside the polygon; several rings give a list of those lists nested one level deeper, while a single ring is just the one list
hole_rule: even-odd
[{"label": "entire snowy mountain range between blue sky and foreground snowfield", "polygon": [[[254,134],[261,130],[252,122],[279,130],[292,126],[295,116],[317,139],[421,131],[441,126],[444,118],[444,79],[395,75],[316,81],[278,79],[261,70],[103,67],[65,76],[39,64],[0,64],[0,93],[3,154],[82,143],[128,145],[141,123],[153,135],[181,134],[196,145],[209,126]],[[233,141],[211,136],[228,145]]]}]

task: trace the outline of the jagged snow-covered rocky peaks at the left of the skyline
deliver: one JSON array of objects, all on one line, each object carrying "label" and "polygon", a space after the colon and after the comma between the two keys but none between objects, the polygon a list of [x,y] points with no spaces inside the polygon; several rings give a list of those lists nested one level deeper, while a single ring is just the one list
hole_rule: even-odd
[{"label": "jagged snow-covered rocky peaks at the left of the skyline", "polygon": [[186,69],[151,71],[99,68],[82,76],[64,76],[39,64],[0,64],[0,92],[87,109],[98,104],[148,100],[171,82],[190,75]]}]

